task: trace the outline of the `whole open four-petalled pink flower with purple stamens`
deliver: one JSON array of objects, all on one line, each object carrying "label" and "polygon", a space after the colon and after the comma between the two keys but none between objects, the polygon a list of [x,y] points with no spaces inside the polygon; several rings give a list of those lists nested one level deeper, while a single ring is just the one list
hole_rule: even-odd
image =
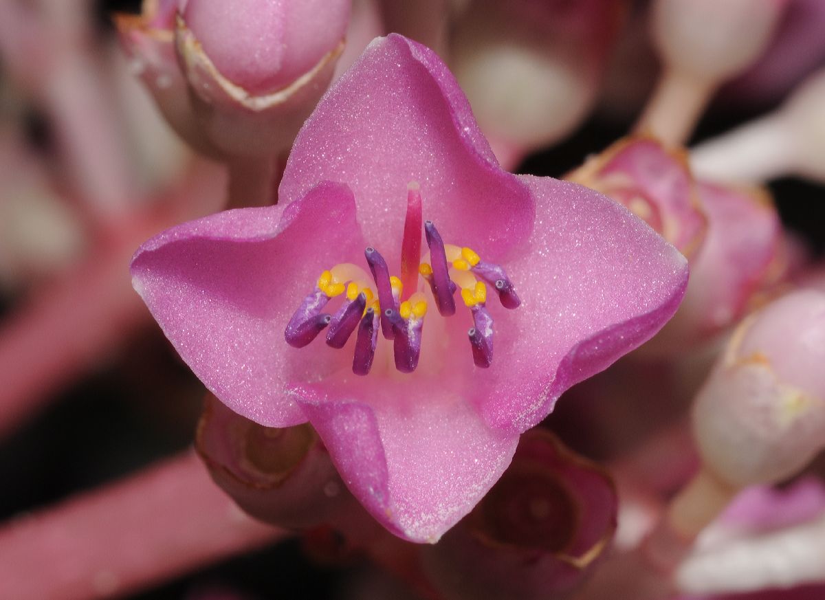
[{"label": "whole open four-petalled pink flower with purple stamens", "polygon": [[[420,187],[408,191],[410,182]],[[579,185],[502,171],[446,66],[399,35],[375,40],[328,91],[296,139],[279,197],[277,206],[219,213],[146,242],[132,263],[134,287],[215,396],[259,424],[309,420],[356,498],[412,541],[436,541],[468,513],[507,467],[519,434],[562,391],[648,340],[686,286],[682,256],[618,204]],[[394,303],[396,339],[377,335],[377,316],[361,319],[356,329],[371,326],[378,338],[365,376],[351,368],[374,339],[361,331],[343,349],[286,343],[288,324],[303,345],[307,323],[325,320],[310,297],[323,304],[318,290],[334,295],[352,279],[318,274],[343,263],[363,272],[368,246],[393,269],[403,236],[408,293],[413,282],[428,294],[409,269],[422,215],[431,222],[441,311],[425,296],[427,316],[416,308],[398,321],[404,297],[384,294],[380,308]],[[464,293],[472,307],[455,302],[437,282],[437,237],[481,257],[463,274],[450,270],[456,284],[464,288],[474,271],[483,281],[477,267],[487,266],[521,306],[499,306],[491,292],[485,307],[474,285]],[[366,254],[385,283],[377,252]],[[356,284],[381,296],[370,281]],[[441,316],[450,301],[455,316]],[[340,316],[338,302],[329,307]],[[495,322],[475,332],[477,342],[484,334],[479,356],[468,328],[483,313]],[[419,317],[426,322],[416,331]],[[485,345],[493,329],[494,354]],[[414,355],[414,373],[396,370],[394,347],[403,370],[416,367]],[[485,357],[488,368],[476,366]],[[369,366],[355,363],[361,372]]]}]

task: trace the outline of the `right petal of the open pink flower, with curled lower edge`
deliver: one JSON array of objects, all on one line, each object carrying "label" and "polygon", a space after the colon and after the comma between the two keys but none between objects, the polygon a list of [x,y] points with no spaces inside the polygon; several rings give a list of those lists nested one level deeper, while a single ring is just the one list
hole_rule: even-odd
[{"label": "right petal of the open pink flower, with curled lower edge", "polygon": [[485,420],[507,431],[530,429],[568,387],[661,329],[688,275],[684,256],[606,196],[519,178],[538,211],[523,254],[507,263],[521,307],[494,315],[497,354],[473,378]]}]

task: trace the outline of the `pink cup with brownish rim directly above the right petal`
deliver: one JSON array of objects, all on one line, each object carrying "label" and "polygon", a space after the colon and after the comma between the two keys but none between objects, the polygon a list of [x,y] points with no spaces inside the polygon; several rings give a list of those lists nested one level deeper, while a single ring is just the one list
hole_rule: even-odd
[{"label": "pink cup with brownish rim directly above the right petal", "polygon": [[610,196],[687,257],[700,247],[707,219],[686,152],[655,138],[625,138],[587,160],[565,179]]}]

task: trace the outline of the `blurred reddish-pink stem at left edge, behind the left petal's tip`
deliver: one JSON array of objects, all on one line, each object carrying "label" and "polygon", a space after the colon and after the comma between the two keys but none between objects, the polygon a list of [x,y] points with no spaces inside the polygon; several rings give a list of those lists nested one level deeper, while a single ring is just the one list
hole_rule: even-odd
[{"label": "blurred reddish-pink stem at left edge, behind the left petal's tip", "polygon": [[163,228],[218,209],[222,177],[215,166],[198,163],[177,194],[158,202],[162,214],[131,215],[82,265],[0,325],[0,435],[148,323],[130,284],[132,254]]}]

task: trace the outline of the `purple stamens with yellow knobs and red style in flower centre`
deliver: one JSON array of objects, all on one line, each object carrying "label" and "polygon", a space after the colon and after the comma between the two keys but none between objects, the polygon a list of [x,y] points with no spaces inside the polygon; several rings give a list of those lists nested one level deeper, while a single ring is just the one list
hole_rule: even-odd
[{"label": "purple stamens with yellow knobs and red style in flower centre", "polygon": [[[505,308],[521,304],[507,273],[485,262],[468,247],[445,244],[431,221],[423,223],[429,260],[422,262],[422,202],[416,183],[408,186],[407,217],[401,244],[401,277],[389,274],[384,257],[374,247],[364,251],[371,277],[351,263],[335,265],[318,277],[315,288],[286,326],[285,339],[303,348],[325,328],[327,344],[341,349],[356,333],[352,372],[370,373],[378,331],[393,341],[395,368],[413,373],[421,354],[428,288],[441,316],[455,314],[455,293],[473,316],[468,331],[474,363],[487,368],[493,361],[493,316],[487,309],[487,289],[492,286]],[[427,258],[427,256],[425,257]],[[343,298],[334,314],[323,312],[332,298]]]}]

